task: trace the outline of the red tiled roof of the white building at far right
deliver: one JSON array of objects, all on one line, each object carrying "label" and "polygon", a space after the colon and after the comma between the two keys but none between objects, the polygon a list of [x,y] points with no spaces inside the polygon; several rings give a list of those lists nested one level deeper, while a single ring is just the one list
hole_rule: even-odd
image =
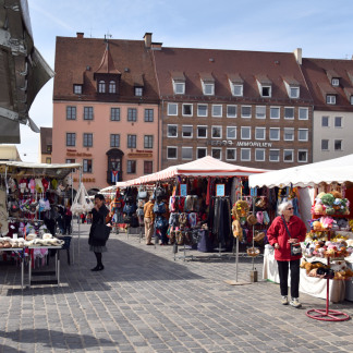
[{"label": "red tiled roof of the white building at far right", "polygon": [[[334,60],[334,59],[303,59],[302,71],[306,80],[307,86],[314,99],[316,110],[330,111],[352,111],[352,106],[348,99],[344,89],[352,88],[353,82],[349,76],[349,72],[353,73],[352,60]],[[329,75],[340,78],[340,86],[332,86]],[[326,104],[326,95],[334,94],[336,105]]]}]

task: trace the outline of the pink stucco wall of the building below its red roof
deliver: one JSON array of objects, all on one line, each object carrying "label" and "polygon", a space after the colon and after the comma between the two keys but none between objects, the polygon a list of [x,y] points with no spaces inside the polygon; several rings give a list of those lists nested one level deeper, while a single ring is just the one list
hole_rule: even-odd
[{"label": "pink stucco wall of the building below its red roof", "polygon": [[[76,107],[76,120],[66,120],[66,107]],[[94,119],[84,120],[84,107],[94,108]],[[120,108],[120,121],[110,120],[110,109]],[[137,121],[127,122],[127,108],[137,109]],[[154,122],[145,122],[145,109],[154,109]],[[76,146],[66,147],[66,133],[76,134]],[[93,133],[93,147],[83,147],[83,134]],[[144,174],[144,160],[153,160],[154,172],[158,170],[158,106],[157,105],[129,105],[106,102],[77,102],[54,101],[52,124],[52,162],[62,163],[66,159],[93,159],[93,172],[84,173],[84,184],[87,190],[102,188],[107,184],[108,157],[106,153],[110,147],[110,134],[120,134],[120,147],[124,153],[122,159],[123,181]],[[127,149],[127,135],[136,136],[136,148]],[[154,135],[151,157],[127,157],[127,154],[145,150],[144,135]],[[150,149],[149,149],[150,150]],[[70,156],[74,154],[76,156]],[[77,154],[86,154],[85,157]],[[136,160],[136,174],[127,174],[127,159]],[[74,176],[76,178],[76,176]],[[95,179],[95,181],[89,181]],[[74,185],[77,183],[74,183]]]}]

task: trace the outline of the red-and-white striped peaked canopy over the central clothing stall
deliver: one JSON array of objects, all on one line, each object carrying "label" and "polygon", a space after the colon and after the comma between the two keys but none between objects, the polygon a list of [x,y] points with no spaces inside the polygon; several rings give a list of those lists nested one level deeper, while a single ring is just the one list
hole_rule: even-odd
[{"label": "red-and-white striped peaked canopy over the central clothing stall", "polygon": [[236,166],[223,162],[211,156],[206,156],[186,162],[183,165],[172,166],[153,174],[144,175],[127,181],[130,185],[138,185],[171,179],[176,175],[184,176],[248,176],[254,173],[264,173],[267,170]]}]

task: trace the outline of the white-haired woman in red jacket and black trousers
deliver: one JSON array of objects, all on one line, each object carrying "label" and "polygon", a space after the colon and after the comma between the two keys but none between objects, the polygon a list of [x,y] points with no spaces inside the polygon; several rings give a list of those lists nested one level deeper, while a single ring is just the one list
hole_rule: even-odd
[{"label": "white-haired woman in red jacket and black trousers", "polygon": [[[278,264],[282,304],[288,305],[288,272],[291,269],[291,302],[294,307],[301,307],[299,302],[300,260],[302,254],[291,255],[291,243],[304,242],[306,234],[305,223],[293,216],[293,205],[284,202],[278,207],[276,217],[267,231],[268,242],[275,247],[275,258]],[[287,231],[290,232],[290,235]]]}]

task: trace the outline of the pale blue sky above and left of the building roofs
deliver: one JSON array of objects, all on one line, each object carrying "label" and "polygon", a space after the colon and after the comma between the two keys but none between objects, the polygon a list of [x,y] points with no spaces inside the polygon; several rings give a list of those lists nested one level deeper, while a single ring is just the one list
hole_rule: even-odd
[{"label": "pale blue sky above and left of the building roofs", "polygon": [[[352,0],[27,0],[36,48],[54,70],[56,37],[143,40],[146,32],[165,47],[292,52],[304,58],[351,60]],[[29,117],[52,126],[51,78]],[[16,145],[37,162],[39,134],[21,126]]]}]

